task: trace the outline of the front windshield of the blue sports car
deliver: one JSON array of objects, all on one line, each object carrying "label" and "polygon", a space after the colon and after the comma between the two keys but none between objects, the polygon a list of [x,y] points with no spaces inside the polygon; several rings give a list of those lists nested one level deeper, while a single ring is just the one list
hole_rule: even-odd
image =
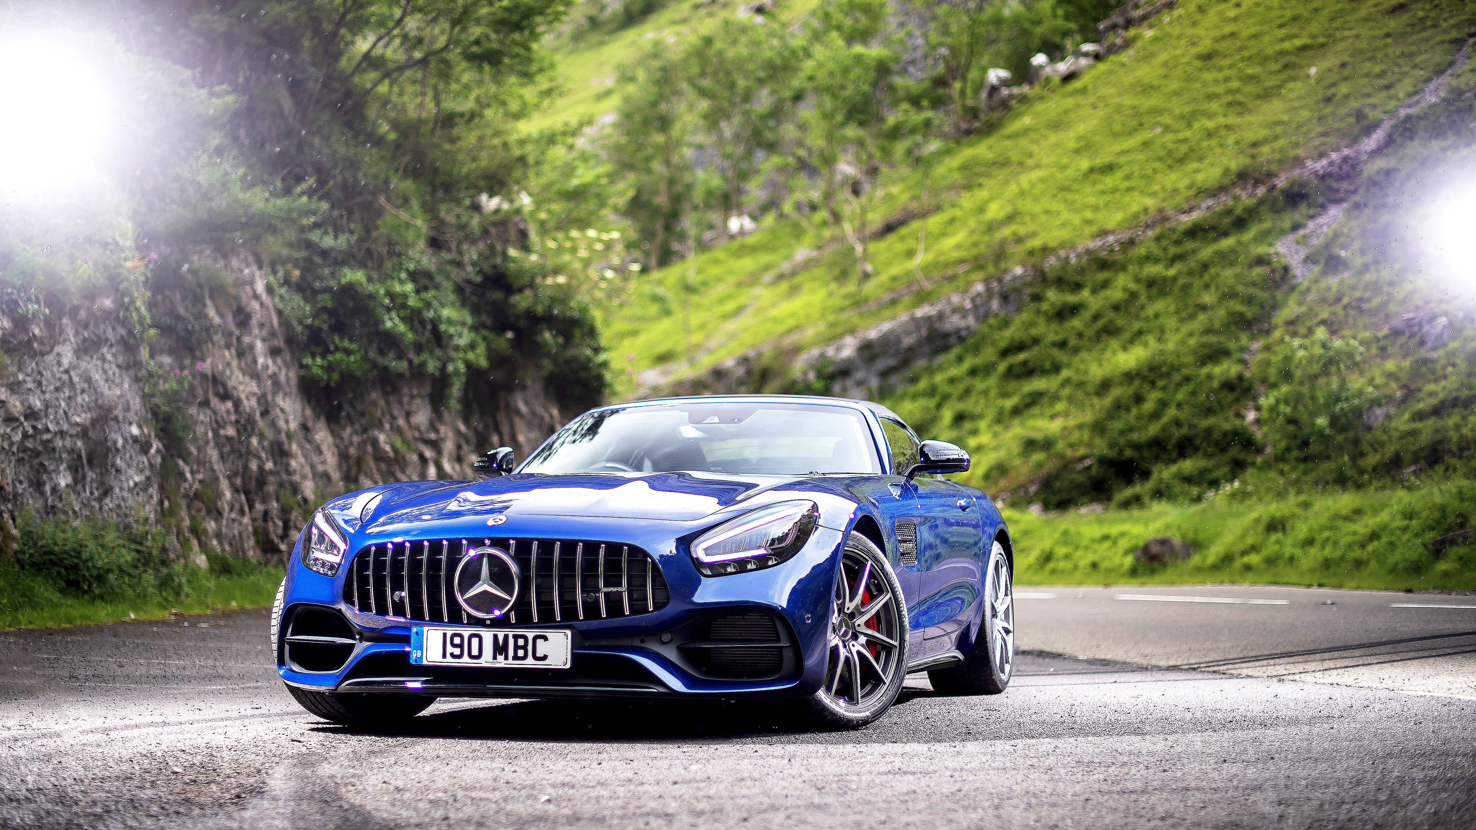
[{"label": "front windshield of the blue sports car", "polygon": [[673,403],[590,412],[521,473],[881,473],[862,414],[813,403]]}]

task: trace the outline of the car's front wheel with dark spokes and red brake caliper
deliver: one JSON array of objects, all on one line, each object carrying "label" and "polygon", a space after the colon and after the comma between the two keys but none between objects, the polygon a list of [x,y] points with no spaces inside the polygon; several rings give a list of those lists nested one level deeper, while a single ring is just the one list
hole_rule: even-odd
[{"label": "car's front wheel with dark spokes and red brake caliper", "polygon": [[897,699],[908,676],[908,610],[887,555],[852,533],[835,569],[825,682],[806,699],[813,721],[859,730]]}]

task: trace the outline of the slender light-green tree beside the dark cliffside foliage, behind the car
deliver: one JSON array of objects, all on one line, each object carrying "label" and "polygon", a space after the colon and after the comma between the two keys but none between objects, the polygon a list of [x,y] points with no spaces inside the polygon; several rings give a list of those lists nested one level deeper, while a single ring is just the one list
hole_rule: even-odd
[{"label": "slender light-green tree beside the dark cliffside foliage, behind the car", "polygon": [[623,96],[608,152],[629,188],[624,216],[646,245],[652,273],[677,242],[680,207],[692,188],[692,97],[685,69],[679,55],[658,40],[620,69]]}]

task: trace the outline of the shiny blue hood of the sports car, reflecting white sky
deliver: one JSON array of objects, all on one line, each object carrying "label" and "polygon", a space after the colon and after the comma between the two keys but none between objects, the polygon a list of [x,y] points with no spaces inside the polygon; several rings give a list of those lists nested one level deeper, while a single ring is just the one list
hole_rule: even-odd
[{"label": "shiny blue hood of the sports car, reflecting white sky", "polygon": [[381,504],[368,517],[368,529],[493,514],[692,521],[794,480],[790,476],[710,473],[502,476],[447,483],[446,487]]}]

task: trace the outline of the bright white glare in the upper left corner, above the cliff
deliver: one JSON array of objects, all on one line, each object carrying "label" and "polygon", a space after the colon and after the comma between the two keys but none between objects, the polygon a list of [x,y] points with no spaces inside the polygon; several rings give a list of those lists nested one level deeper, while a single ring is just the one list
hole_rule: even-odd
[{"label": "bright white glare in the upper left corner, above the cliff", "polygon": [[44,199],[86,189],[108,146],[108,81],[56,40],[0,40],[0,196]]}]

